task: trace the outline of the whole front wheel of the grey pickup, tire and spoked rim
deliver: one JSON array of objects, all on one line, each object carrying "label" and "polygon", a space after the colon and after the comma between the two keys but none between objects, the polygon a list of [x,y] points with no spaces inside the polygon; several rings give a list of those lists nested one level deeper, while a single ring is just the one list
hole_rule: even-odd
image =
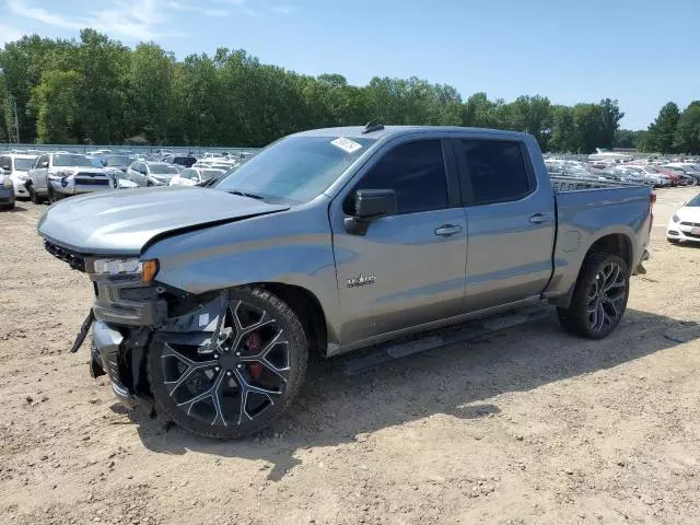
[{"label": "whole front wheel of the grey pickup, tire and spoked rim", "polygon": [[267,290],[240,288],[229,291],[213,348],[156,334],[147,366],[155,405],[172,421],[194,434],[234,439],[287,410],[307,360],[296,314]]}]

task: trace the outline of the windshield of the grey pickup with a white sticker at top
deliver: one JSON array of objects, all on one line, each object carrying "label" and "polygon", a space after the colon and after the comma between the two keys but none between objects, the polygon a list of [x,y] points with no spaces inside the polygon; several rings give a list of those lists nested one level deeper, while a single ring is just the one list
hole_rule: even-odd
[{"label": "windshield of the grey pickup with a white sticker at top", "polygon": [[375,141],[289,137],[242,164],[215,188],[306,202],[324,192]]}]

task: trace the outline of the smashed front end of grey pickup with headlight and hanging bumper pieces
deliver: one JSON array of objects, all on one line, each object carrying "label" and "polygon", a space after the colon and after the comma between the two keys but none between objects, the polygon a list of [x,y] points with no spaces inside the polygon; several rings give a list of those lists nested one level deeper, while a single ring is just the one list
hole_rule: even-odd
[{"label": "smashed front end of grey pickup with headlight and hanging bumper pieces", "polygon": [[155,260],[84,255],[48,240],[45,247],[90,277],[95,299],[71,351],[80,349],[92,328],[90,374],[106,374],[126,406],[152,397],[147,352],[156,334],[195,337],[206,348],[225,311],[221,292],[192,295],[159,283]]}]

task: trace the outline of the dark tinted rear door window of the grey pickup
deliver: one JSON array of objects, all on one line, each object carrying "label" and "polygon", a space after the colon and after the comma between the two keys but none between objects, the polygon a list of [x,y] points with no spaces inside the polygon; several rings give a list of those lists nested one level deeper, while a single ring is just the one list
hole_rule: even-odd
[{"label": "dark tinted rear door window of the grey pickup", "polygon": [[462,140],[467,158],[474,203],[508,202],[534,189],[521,144],[504,140]]}]

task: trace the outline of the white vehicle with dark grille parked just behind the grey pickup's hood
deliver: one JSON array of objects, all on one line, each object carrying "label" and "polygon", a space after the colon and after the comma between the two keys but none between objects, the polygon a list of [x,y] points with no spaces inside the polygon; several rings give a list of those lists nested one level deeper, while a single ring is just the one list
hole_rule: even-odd
[{"label": "white vehicle with dark grille parked just behind the grey pickup's hood", "polygon": [[56,202],[70,195],[114,189],[116,178],[103,167],[94,167],[85,155],[46,153],[27,173],[26,188],[32,202],[45,198]]}]

